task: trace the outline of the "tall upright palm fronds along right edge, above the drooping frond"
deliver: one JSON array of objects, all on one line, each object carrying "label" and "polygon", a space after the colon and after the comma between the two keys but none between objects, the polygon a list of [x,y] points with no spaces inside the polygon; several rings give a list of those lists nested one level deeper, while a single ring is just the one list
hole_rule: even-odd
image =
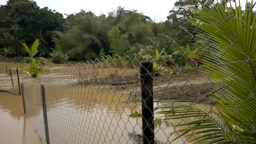
[{"label": "tall upright palm fronds along right edge, above the drooping frond", "polygon": [[[201,55],[201,62],[206,66],[217,65],[208,67],[205,71],[208,71],[212,79],[221,79],[221,89],[215,93],[219,98],[216,107],[223,113],[221,116],[229,125],[236,125],[242,131],[253,132],[256,125],[256,66],[250,60],[256,59],[256,17],[252,10],[246,10],[242,15],[241,4],[235,5],[235,12],[221,4],[220,9],[215,7],[215,10],[205,9],[198,12],[197,9],[193,9],[197,14],[189,21],[195,25],[200,19],[202,25],[198,27],[212,39],[207,43],[216,46],[217,51],[204,52]],[[254,5],[252,2],[251,7]],[[203,50],[205,51],[201,49],[201,52]],[[211,61],[204,58],[211,58]],[[220,63],[229,64],[219,65]]]}]

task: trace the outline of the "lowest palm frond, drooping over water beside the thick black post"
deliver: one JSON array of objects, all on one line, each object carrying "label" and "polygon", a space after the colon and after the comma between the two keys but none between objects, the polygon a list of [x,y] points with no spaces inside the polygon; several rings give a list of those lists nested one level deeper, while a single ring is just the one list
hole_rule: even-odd
[{"label": "lowest palm frond, drooping over water beside the thick black post", "polygon": [[[219,114],[215,114],[213,111],[209,112],[198,106],[190,105],[189,103],[168,103],[157,109],[162,109],[162,111],[157,113],[165,114],[165,116],[163,116],[165,120],[182,118],[181,123],[173,126],[185,126],[185,128],[176,130],[176,132],[179,133],[179,136],[172,141],[180,137],[192,138],[194,136],[195,138],[188,142],[206,142],[212,140],[213,136],[214,138],[225,138],[215,141],[218,143],[222,143],[222,141],[232,141],[232,138],[227,134],[232,132],[232,129],[226,125],[226,122]],[[196,120],[186,121],[186,118]]]}]

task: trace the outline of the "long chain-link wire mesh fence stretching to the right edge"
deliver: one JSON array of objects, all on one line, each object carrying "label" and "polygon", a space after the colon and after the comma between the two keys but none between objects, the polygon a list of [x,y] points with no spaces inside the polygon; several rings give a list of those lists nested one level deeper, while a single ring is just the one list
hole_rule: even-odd
[{"label": "long chain-link wire mesh fence stretching to the right edge", "polygon": [[255,25],[247,12],[224,18],[148,38],[134,55],[23,77],[35,131],[44,143],[255,143]]}]

